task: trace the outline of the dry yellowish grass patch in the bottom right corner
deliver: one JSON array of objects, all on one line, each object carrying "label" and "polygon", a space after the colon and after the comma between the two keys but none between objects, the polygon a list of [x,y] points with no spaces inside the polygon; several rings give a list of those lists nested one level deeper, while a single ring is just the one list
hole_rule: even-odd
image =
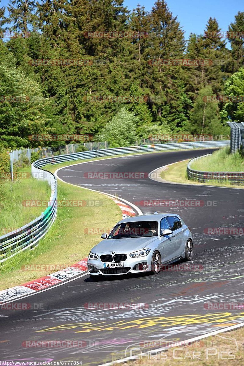
[{"label": "dry yellowish grass patch in the bottom right corner", "polygon": [[[243,366],[244,328],[204,338],[191,345],[169,348],[128,366]],[[195,347],[196,346],[196,347]]]}]

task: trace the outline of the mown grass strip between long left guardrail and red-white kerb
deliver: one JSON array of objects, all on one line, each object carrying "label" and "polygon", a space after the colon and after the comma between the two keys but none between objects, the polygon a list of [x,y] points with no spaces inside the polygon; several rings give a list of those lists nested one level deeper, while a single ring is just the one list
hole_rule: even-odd
[{"label": "mown grass strip between long left guardrail and red-white kerb", "polygon": [[[54,170],[56,166],[52,166]],[[119,206],[109,197],[58,180],[58,200],[65,199],[97,201],[98,206],[58,207],[57,219],[38,247],[3,262],[0,267],[0,290],[55,272],[50,265],[69,266],[78,262],[100,241],[101,234],[85,234],[87,228],[111,228],[121,220]]]}]

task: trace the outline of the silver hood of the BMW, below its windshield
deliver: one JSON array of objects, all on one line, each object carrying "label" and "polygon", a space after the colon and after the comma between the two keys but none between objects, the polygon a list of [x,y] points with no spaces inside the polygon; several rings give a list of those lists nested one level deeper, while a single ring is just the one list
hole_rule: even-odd
[{"label": "silver hood of the BMW, below its windshield", "polygon": [[153,238],[131,238],[131,239],[108,239],[102,240],[100,243],[95,245],[91,252],[94,254],[108,253],[108,252],[134,252],[141,249],[150,248],[150,244],[154,240],[158,239],[157,236]]}]

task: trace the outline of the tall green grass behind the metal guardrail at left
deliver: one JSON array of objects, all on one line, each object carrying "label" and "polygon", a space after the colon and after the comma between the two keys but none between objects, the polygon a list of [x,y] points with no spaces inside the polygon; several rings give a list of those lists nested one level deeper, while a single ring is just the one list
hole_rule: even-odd
[{"label": "tall green grass behind the metal guardrail at left", "polygon": [[51,190],[47,182],[31,177],[31,168],[18,171],[14,182],[0,182],[0,236],[14,231],[40,216],[45,207],[26,207],[26,200],[50,199]]}]

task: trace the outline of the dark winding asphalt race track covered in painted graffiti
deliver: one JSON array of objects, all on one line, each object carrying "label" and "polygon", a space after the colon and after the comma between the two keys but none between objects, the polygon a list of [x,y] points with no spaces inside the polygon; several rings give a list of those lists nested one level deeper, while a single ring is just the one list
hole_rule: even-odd
[{"label": "dark winding asphalt race track covered in painted graffiti", "polygon": [[[43,310],[1,311],[1,359],[101,365],[158,348],[155,343],[158,340],[185,340],[243,322],[244,309],[210,309],[207,305],[243,301],[243,236],[204,232],[207,228],[244,227],[243,190],[159,183],[149,178],[83,178],[85,172],[149,173],[162,165],[211,151],[125,156],[61,169],[58,176],[66,182],[117,195],[134,204],[148,199],[204,201],[200,207],[139,206],[143,213],[181,215],[192,228],[194,266],[192,270],[162,270],[155,276],[123,276],[100,281],[85,275],[28,296],[26,302],[43,303]],[[95,228],[96,223],[91,223],[91,227]],[[87,309],[86,303],[146,305],[137,309],[95,310]],[[23,347],[26,340],[81,340],[84,344],[79,348]],[[144,342],[148,341],[152,342],[151,348],[145,347]]]}]

